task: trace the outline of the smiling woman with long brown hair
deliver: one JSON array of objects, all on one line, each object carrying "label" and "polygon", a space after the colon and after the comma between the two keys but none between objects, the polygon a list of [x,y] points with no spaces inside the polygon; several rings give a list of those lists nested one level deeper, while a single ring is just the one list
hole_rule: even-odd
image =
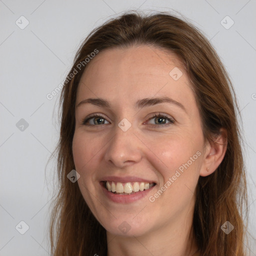
[{"label": "smiling woman with long brown hair", "polygon": [[60,100],[53,255],[245,255],[236,99],[196,28],[164,12],[110,19]]}]

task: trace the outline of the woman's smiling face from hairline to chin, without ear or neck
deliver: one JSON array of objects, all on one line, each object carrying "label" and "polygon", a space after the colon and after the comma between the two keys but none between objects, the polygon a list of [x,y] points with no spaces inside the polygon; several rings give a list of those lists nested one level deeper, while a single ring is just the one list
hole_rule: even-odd
[{"label": "woman's smiling face from hairline to chin, without ear or neck", "polygon": [[72,145],[82,196],[112,234],[178,228],[192,216],[204,152],[185,70],[175,55],[145,45],[104,50],[87,65]]}]

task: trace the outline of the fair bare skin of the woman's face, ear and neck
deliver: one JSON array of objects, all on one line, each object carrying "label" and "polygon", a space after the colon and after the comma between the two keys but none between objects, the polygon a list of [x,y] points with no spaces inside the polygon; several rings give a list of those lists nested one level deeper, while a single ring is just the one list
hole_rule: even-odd
[{"label": "fair bare skin of the woman's face, ear and neck", "polygon": [[[183,73],[178,80],[169,75],[174,67]],[[185,111],[166,102],[134,108],[138,99],[160,96],[180,102]],[[216,143],[204,142],[195,97],[179,59],[146,45],[99,52],[81,77],[76,105],[90,97],[104,98],[110,108],[90,103],[76,107],[72,150],[80,191],[106,229],[107,255],[192,255],[198,249],[192,240],[194,190],[199,176],[220,164],[226,145],[222,136]],[[175,122],[163,119],[166,124],[157,124],[159,118],[152,116],[159,112]],[[93,118],[91,125],[82,124],[91,113],[102,114],[102,124],[93,125]],[[117,125],[123,118],[131,123],[127,131]],[[197,151],[200,156],[149,201]],[[116,203],[99,185],[105,175],[144,177],[156,185],[138,201]],[[118,228],[123,221],[130,226],[127,233]]]}]

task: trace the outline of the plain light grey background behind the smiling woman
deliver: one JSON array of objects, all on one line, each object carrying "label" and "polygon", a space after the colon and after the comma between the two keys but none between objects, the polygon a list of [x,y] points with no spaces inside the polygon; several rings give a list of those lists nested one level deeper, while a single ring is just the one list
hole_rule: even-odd
[{"label": "plain light grey background behind the smiling woman", "polygon": [[[128,9],[182,13],[220,55],[242,115],[249,227],[256,237],[255,8],[255,0],[0,0],[0,255],[49,255],[55,165],[46,162],[58,139],[59,94],[51,100],[46,94],[63,82],[88,32]],[[21,118],[27,128],[16,126]],[[15,229],[18,224],[19,231],[25,230],[21,220],[29,226],[24,234]],[[253,243],[251,255],[256,255]]]}]

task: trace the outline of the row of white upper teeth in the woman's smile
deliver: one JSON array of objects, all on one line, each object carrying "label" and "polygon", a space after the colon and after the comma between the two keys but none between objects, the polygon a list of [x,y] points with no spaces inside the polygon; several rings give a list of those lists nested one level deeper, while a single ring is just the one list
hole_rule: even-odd
[{"label": "row of white upper teeth in the woman's smile", "polygon": [[114,181],[106,181],[106,188],[108,191],[117,192],[117,193],[131,193],[137,192],[138,190],[143,191],[144,189],[148,189],[153,186],[154,183],[145,183],[145,182],[127,182],[120,183],[117,182],[115,184]]}]

